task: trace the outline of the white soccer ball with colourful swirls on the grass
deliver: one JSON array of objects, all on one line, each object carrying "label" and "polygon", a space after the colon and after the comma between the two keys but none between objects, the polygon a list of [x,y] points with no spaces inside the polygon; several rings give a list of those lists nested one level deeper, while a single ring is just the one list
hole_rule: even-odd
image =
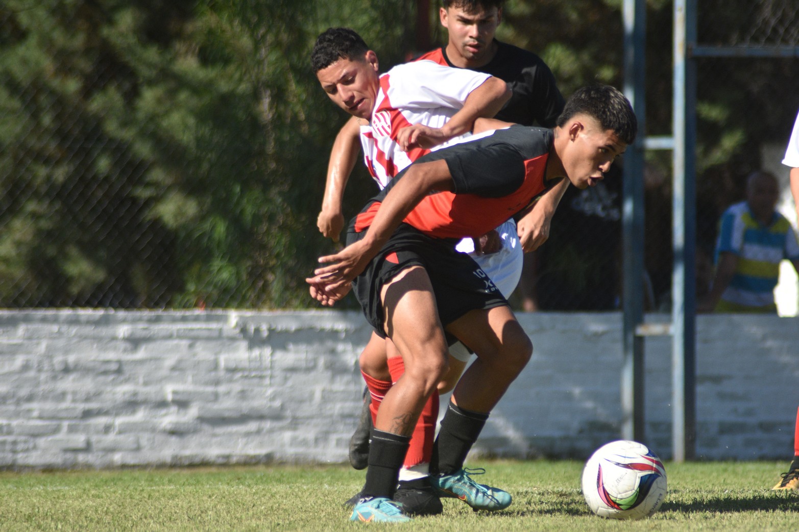
[{"label": "white soccer ball with colourful swirls on the grass", "polygon": [[582,494],[591,511],[601,517],[649,517],[666,498],[666,491],[663,463],[642,443],[606,443],[582,469]]}]

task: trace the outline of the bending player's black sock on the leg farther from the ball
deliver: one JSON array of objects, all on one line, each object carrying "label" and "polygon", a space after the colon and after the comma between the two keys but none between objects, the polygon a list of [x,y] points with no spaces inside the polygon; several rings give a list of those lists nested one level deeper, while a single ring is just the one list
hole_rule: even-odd
[{"label": "bending player's black sock on the leg farther from the ball", "polygon": [[369,467],[366,470],[366,483],[361,496],[394,498],[397,478],[400,476],[400,468],[410,444],[410,436],[372,429]]}]

